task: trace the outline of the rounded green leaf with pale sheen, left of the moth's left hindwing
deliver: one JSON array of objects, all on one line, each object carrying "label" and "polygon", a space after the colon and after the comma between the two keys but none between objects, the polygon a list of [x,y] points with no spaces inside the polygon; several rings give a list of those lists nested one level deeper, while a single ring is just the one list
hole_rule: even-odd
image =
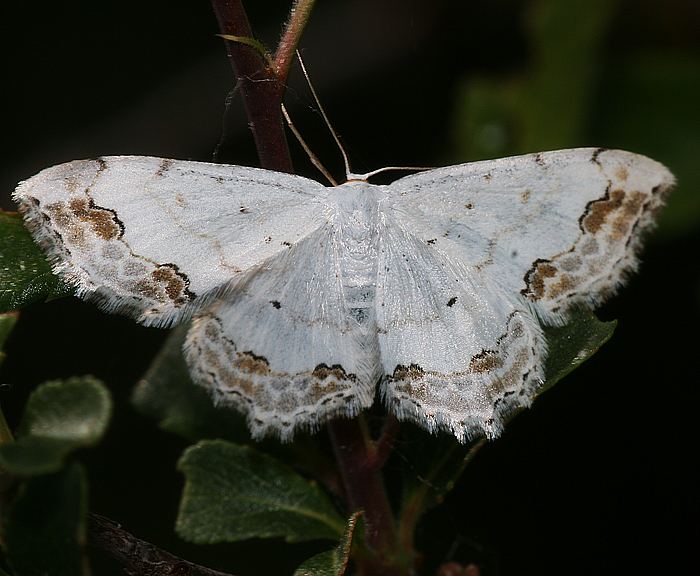
[{"label": "rounded green leaf with pale sheen, left of the moth's left hindwing", "polygon": [[70,452],[98,442],[111,411],[109,391],[90,376],[46,382],[27,401],[17,441],[0,445],[0,466],[20,476],[55,472]]}]

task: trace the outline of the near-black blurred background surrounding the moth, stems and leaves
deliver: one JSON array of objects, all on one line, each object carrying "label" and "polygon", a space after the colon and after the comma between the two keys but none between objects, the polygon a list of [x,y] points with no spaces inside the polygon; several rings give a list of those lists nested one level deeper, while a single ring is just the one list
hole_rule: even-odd
[{"label": "near-black blurred background surrounding the moth, stems and leaves", "polygon": [[[254,30],[274,46],[288,2],[248,4]],[[695,574],[700,8],[694,0],[562,0],[543,41],[535,31],[548,4],[320,0],[302,41],[356,172],[541,143],[627,148],[679,180],[640,273],[599,311],[619,319],[613,339],[517,417],[427,517],[419,534],[426,574],[448,560],[478,562],[487,576]],[[211,160],[223,134],[221,161],[256,165],[240,100],[224,118],[234,79],[206,0],[2,10],[3,207],[17,181],[76,158]],[[579,46],[577,33],[597,10],[610,14]],[[542,55],[569,40],[561,61]],[[306,87],[297,74],[290,84],[296,124],[340,177]],[[303,153],[294,155],[297,170],[315,177]],[[192,561],[241,575],[291,573],[327,544],[290,547],[284,557],[278,542],[196,547],[174,534],[175,461],[185,442],[128,402],[163,337],[74,299],[30,307],[0,374],[10,424],[40,382],[95,374],[117,407],[102,446],[84,455],[92,510]]]}]

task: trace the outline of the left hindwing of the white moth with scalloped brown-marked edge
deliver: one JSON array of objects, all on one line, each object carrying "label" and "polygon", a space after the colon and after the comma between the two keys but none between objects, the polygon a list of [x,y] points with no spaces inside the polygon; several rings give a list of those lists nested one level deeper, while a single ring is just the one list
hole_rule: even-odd
[{"label": "left hindwing of the white moth with scalloped brown-marked edge", "polygon": [[374,324],[358,323],[348,302],[342,241],[328,221],[194,318],[185,349],[195,381],[243,411],[254,437],[289,440],[373,402]]}]

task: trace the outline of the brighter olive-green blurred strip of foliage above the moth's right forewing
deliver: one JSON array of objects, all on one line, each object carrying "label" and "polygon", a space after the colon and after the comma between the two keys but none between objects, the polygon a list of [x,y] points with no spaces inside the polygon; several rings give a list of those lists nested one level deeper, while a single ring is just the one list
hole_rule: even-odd
[{"label": "brighter olive-green blurred strip of foliage above the moth's right forewing", "polygon": [[481,160],[580,145],[617,5],[617,0],[532,2],[528,69],[510,79],[463,81],[455,154]]}]

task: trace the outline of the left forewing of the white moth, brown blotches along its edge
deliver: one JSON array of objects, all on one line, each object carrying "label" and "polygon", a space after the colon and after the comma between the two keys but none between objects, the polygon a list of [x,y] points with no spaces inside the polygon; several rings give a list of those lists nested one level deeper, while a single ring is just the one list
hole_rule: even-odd
[{"label": "left forewing of the white moth, brown blotches along its edge", "polygon": [[326,188],[239,166],[116,156],[14,193],[54,271],[107,311],[168,325],[323,223]]}]

